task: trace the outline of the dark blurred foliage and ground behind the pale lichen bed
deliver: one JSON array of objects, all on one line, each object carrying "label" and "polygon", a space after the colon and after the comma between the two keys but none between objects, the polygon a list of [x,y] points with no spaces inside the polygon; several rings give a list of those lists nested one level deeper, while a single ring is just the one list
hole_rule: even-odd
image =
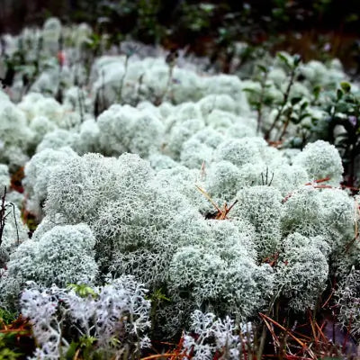
[{"label": "dark blurred foliage and ground behind the pale lichen bed", "polygon": [[18,32],[55,15],[64,23],[91,23],[167,48],[189,46],[199,55],[233,40],[288,49],[302,58],[339,57],[357,67],[358,0],[1,0],[0,33]]}]

